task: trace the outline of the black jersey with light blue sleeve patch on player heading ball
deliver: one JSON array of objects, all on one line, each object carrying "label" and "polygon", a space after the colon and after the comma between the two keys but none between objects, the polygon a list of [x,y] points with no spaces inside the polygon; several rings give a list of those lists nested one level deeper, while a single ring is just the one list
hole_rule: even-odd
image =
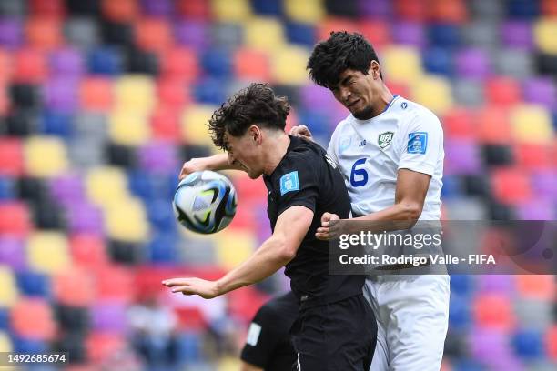
[{"label": "black jersey with light blue sleeve patch on player heading ball", "polygon": [[290,206],[314,212],[311,226],[285,274],[302,306],[331,303],[361,294],[364,276],[329,276],[329,243],[315,237],[325,212],[349,218],[350,200],[344,179],[327,152],[319,145],[290,136],[287,153],[271,175],[264,175],[268,189],[268,218],[274,230],[279,215]]}]

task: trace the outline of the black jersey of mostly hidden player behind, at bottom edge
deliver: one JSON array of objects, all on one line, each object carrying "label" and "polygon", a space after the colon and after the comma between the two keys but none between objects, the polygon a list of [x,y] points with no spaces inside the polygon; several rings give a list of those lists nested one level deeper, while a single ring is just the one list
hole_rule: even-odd
[{"label": "black jersey of mostly hidden player behind, at bottom edge", "polygon": [[292,292],[261,306],[251,321],[240,358],[265,371],[289,370],[296,361],[289,330],[298,313],[298,299]]}]

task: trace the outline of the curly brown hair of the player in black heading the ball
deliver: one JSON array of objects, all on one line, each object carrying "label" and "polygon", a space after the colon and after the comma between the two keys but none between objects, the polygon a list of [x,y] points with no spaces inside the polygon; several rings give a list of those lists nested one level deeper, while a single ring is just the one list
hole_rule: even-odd
[{"label": "curly brown hair of the player in black heading the ball", "polygon": [[254,83],[240,90],[213,113],[208,122],[213,143],[226,150],[224,136],[241,136],[250,125],[284,130],[290,106],[284,96],[276,96],[266,84]]}]

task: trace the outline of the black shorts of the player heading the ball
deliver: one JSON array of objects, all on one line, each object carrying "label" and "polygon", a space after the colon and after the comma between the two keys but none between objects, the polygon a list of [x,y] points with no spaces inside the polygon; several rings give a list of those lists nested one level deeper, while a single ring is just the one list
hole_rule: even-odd
[{"label": "black shorts of the player heading the ball", "polygon": [[296,371],[368,371],[377,323],[363,295],[300,309],[290,329]]}]

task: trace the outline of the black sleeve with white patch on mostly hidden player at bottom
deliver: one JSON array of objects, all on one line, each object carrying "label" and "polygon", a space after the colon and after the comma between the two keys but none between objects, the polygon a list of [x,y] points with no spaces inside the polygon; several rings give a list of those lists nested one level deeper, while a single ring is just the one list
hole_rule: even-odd
[{"label": "black sleeve with white patch on mostly hidden player at bottom", "polygon": [[288,336],[277,322],[266,306],[259,309],[248,328],[246,344],[240,354],[242,361],[261,368],[268,367],[279,343]]}]

